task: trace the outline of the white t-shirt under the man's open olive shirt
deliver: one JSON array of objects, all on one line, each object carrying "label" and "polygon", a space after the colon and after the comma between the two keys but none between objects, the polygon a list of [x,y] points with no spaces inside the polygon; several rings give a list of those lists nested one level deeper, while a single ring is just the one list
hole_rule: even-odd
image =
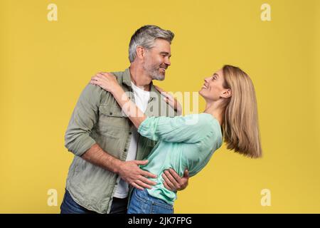
[{"label": "white t-shirt under the man's open olive shirt", "polygon": [[[140,110],[142,110],[142,112],[145,112],[146,106],[148,105],[148,101],[150,98],[150,92],[145,91],[144,88],[139,88],[138,86],[134,85],[134,83],[132,82],[131,82],[131,85],[134,91],[134,100],[136,105]],[[129,151],[128,151],[126,161],[131,161],[136,159],[138,138],[139,138],[139,133],[137,131],[137,128],[135,128],[134,125],[132,125],[132,139],[130,141]],[[114,192],[114,197],[123,199],[128,196],[128,191],[129,191],[128,183],[120,179],[117,186],[117,190]]]}]

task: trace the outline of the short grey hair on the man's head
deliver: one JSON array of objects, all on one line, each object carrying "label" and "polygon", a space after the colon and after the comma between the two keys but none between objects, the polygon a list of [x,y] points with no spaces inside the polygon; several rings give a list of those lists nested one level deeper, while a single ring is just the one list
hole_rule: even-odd
[{"label": "short grey hair on the man's head", "polygon": [[137,55],[137,46],[142,46],[146,49],[153,48],[154,41],[157,38],[163,38],[171,44],[174,39],[174,33],[170,30],[164,30],[158,26],[142,26],[131,37],[129,43],[129,61],[132,63]]}]

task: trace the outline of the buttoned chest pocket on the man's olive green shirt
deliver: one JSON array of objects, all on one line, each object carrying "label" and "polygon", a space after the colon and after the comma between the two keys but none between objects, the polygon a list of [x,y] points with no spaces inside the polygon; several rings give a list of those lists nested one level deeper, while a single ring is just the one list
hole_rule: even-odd
[{"label": "buttoned chest pocket on the man's olive green shirt", "polygon": [[119,106],[100,105],[97,131],[108,138],[119,139],[129,130],[129,119]]}]

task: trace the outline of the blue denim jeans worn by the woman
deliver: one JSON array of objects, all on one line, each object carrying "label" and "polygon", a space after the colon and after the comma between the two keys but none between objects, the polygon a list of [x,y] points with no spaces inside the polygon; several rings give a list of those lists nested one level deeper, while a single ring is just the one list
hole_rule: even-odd
[{"label": "blue denim jeans worn by the woman", "polygon": [[134,188],[129,202],[128,214],[174,214],[174,207],[162,199],[152,197],[144,190]]}]

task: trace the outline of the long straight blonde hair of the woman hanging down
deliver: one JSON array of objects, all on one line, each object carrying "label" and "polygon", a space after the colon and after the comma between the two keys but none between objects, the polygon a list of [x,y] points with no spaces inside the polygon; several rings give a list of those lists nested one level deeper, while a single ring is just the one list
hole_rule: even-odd
[{"label": "long straight blonde hair of the woman hanging down", "polygon": [[261,157],[262,148],[257,118],[255,88],[247,73],[230,65],[223,66],[225,88],[231,97],[224,103],[223,137],[229,150],[247,157]]}]

